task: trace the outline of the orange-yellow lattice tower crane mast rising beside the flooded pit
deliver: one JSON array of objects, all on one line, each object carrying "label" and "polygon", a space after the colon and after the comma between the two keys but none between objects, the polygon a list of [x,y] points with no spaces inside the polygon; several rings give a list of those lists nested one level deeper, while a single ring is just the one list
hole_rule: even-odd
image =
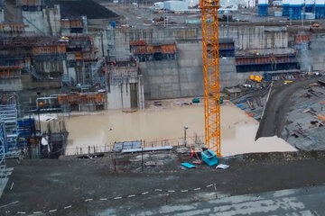
[{"label": "orange-yellow lattice tower crane mast rising beside the flooded pit", "polygon": [[200,0],[203,54],[205,142],[217,157],[220,149],[219,0]]}]

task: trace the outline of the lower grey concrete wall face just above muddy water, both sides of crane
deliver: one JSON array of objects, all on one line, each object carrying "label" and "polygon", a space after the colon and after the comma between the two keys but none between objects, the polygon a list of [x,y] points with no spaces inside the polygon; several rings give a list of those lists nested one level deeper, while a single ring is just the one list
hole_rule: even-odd
[{"label": "lower grey concrete wall face just above muddy water, both sides of crane", "polygon": [[[203,95],[201,42],[177,43],[176,60],[140,62],[144,75],[145,99],[163,99]],[[219,58],[220,89],[244,84],[249,75],[237,73],[235,58]]]}]

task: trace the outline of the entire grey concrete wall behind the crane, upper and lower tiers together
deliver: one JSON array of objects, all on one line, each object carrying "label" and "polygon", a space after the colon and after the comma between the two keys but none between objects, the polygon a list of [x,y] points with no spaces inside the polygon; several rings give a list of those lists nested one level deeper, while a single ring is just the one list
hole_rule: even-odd
[{"label": "entire grey concrete wall behind the crane, upper and lower tiers together", "polygon": [[[283,27],[272,26],[223,26],[220,38],[235,42],[237,52],[287,53],[288,32]],[[147,43],[176,43],[176,60],[140,62],[144,75],[145,99],[163,99],[203,94],[202,49],[200,28],[182,29],[115,29],[116,58],[130,53],[130,40]],[[244,84],[249,75],[261,73],[237,73],[235,58],[220,58],[220,87]]]}]

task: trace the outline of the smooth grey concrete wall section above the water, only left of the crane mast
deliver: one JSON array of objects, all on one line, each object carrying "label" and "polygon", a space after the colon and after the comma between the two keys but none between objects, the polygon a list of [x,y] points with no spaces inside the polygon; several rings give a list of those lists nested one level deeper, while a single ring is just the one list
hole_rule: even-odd
[{"label": "smooth grey concrete wall section above the water, only left of the crane mast", "polygon": [[200,40],[177,42],[176,60],[140,62],[145,99],[203,94]]}]

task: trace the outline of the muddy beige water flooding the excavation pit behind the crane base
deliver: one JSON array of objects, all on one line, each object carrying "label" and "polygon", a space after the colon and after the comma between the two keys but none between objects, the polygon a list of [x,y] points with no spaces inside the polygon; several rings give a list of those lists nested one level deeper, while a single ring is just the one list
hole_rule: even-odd
[{"label": "muddy beige water flooding the excavation pit behind the crane base", "polygon": [[[95,112],[96,113],[96,112]],[[203,141],[204,111],[202,104],[153,106],[137,112],[108,110],[67,119],[69,141],[66,154],[96,146],[104,150],[114,142],[142,140],[146,147],[182,145],[184,126],[189,145]],[[292,151],[290,144],[276,137],[255,141],[258,122],[233,103],[221,105],[221,153],[230,156],[248,152]]]}]

